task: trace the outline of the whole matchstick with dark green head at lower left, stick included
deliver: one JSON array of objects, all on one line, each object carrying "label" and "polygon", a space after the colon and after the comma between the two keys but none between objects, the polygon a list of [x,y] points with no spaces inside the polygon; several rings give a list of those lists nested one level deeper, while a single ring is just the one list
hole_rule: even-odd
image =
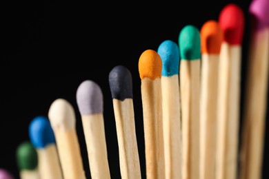
[{"label": "whole matchstick with dark green head at lower left, stick included", "polygon": [[20,179],[40,179],[37,150],[30,141],[19,144],[16,159]]}]

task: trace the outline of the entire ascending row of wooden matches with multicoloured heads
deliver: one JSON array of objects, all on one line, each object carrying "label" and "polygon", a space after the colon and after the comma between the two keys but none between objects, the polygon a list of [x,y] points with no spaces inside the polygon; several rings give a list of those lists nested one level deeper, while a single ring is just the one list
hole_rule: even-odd
[{"label": "entire ascending row of wooden matches with multicoloured heads", "polygon": [[[268,0],[254,0],[250,6],[255,18],[242,134],[239,96],[245,14],[239,6],[228,4],[221,10],[219,21],[206,21],[201,30],[186,25],[179,33],[178,43],[166,40],[156,51],[145,50],[141,54],[138,68],[146,178],[261,178],[269,61],[268,8]],[[118,65],[108,79],[121,178],[139,179],[132,74]],[[111,178],[101,88],[94,81],[83,81],[76,97],[91,178]],[[63,98],[51,104],[48,118],[37,116],[32,120],[30,141],[17,149],[21,179],[86,178],[85,156],[80,154],[75,123],[72,104]]]}]

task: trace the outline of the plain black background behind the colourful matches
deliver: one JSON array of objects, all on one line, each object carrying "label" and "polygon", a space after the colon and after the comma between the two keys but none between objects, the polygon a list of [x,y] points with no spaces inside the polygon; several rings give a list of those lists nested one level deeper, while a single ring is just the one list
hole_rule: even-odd
[{"label": "plain black background behind the colourful matches", "polygon": [[[112,178],[120,178],[108,74],[115,65],[124,65],[132,73],[141,173],[146,178],[139,56],[144,50],[157,50],[166,39],[178,42],[179,32],[185,25],[192,24],[200,29],[206,21],[217,20],[219,12],[228,3],[236,3],[246,15],[242,43],[243,96],[250,29],[249,0],[148,4],[23,1],[1,6],[0,167],[19,178],[15,151],[21,142],[29,139],[30,121],[35,116],[47,116],[55,99],[66,98],[77,115],[83,165],[87,178],[90,178],[75,98],[79,84],[90,79],[103,91],[110,173]],[[266,150],[267,137],[265,143]],[[268,163],[266,158],[265,152],[263,166]],[[266,167],[263,167],[263,178],[268,178]]]}]

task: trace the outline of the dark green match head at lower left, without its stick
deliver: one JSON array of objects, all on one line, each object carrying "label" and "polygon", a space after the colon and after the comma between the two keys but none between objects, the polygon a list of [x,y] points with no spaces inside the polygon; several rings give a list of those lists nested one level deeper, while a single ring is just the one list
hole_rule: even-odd
[{"label": "dark green match head at lower left, without its stick", "polygon": [[38,165],[37,151],[30,141],[25,141],[17,147],[17,167],[20,171],[34,170]]}]

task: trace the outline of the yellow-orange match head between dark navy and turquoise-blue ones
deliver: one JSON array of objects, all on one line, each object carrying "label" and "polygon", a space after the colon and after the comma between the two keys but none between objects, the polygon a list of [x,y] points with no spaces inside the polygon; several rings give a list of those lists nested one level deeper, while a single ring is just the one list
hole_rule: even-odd
[{"label": "yellow-orange match head between dark navy and turquoise-blue ones", "polygon": [[155,50],[145,50],[139,57],[139,76],[155,80],[161,78],[162,68],[161,56]]}]

